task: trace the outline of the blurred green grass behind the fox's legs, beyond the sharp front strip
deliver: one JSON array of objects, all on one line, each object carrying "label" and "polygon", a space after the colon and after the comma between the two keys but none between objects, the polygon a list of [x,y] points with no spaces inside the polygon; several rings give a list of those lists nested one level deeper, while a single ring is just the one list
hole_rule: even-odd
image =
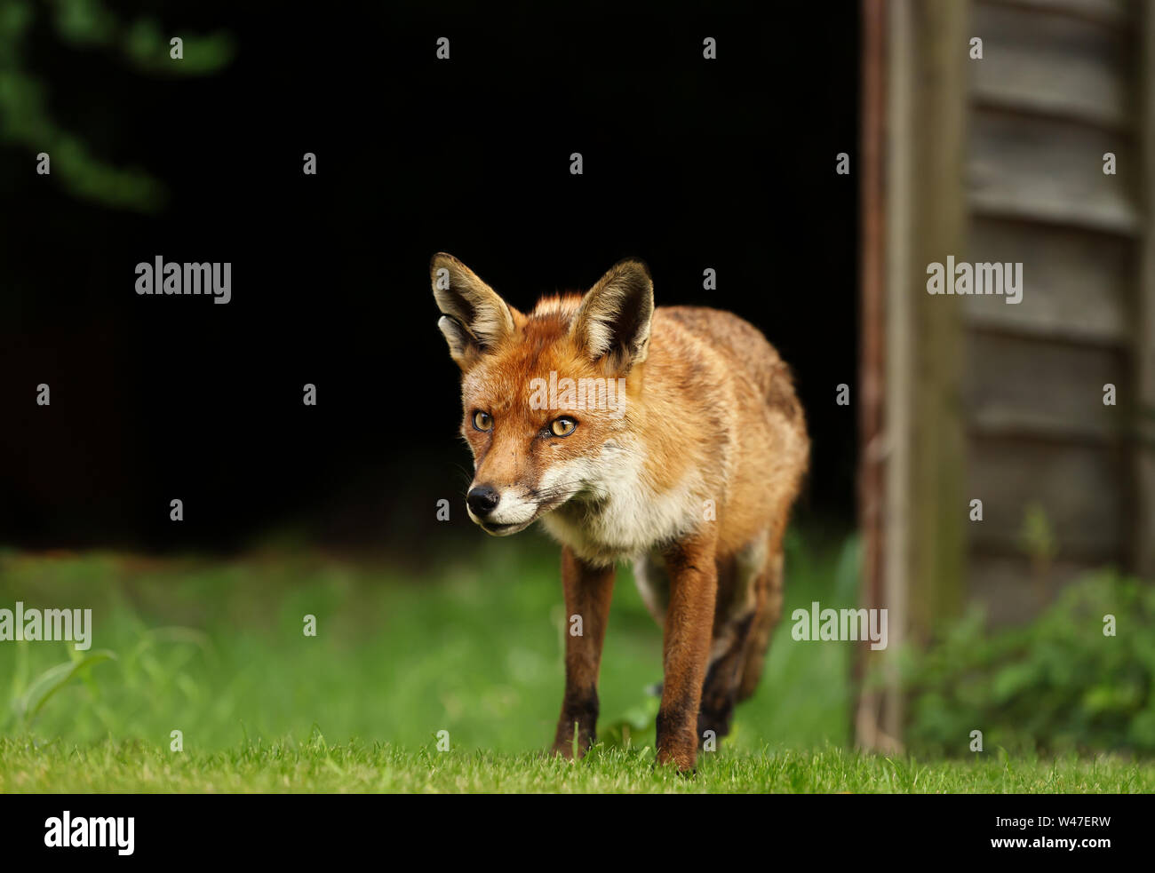
[{"label": "blurred green grass behind the fox's legs, beyond the sharp front strip", "polygon": [[[544,546],[544,547],[543,547]],[[796,547],[795,599],[852,588],[837,552]],[[826,553],[826,552],[824,552]],[[402,573],[387,564],[261,554],[222,564],[114,554],[0,558],[0,605],[89,607],[92,649],[35,721],[0,736],[44,741],[140,739],[186,751],[246,739],[359,738],[420,747],[449,731],[462,749],[528,752],[552,739],[564,685],[564,607],[556,550],[483,540],[465,558]],[[852,596],[852,595],[847,595]],[[303,634],[316,617],[315,637]],[[849,647],[773,647],[763,686],[739,710],[735,741],[808,746],[848,739]],[[603,732],[632,722],[653,743],[662,634],[620,573],[601,682]],[[57,642],[0,643],[0,691],[27,695],[75,657]],[[0,714],[0,719],[3,714]]]}]

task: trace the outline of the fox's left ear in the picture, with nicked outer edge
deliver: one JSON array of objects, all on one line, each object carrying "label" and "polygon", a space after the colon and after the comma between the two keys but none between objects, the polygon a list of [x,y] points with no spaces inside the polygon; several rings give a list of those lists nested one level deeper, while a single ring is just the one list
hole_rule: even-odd
[{"label": "fox's left ear in the picture, with nicked outer edge", "polygon": [[437,326],[449,343],[449,356],[462,370],[513,333],[513,312],[506,301],[453,255],[433,255],[430,281],[441,311]]}]

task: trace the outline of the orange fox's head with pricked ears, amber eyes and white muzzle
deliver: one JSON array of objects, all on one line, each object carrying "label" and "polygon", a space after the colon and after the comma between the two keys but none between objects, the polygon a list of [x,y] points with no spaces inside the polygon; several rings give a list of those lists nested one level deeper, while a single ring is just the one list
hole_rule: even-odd
[{"label": "orange fox's head with pricked ears, amber eyes and white muzzle", "polygon": [[528,315],[452,255],[434,255],[430,273],[462,372],[469,517],[506,536],[571,499],[604,497],[649,351],[646,264],[621,261],[584,294],[544,298]]}]

